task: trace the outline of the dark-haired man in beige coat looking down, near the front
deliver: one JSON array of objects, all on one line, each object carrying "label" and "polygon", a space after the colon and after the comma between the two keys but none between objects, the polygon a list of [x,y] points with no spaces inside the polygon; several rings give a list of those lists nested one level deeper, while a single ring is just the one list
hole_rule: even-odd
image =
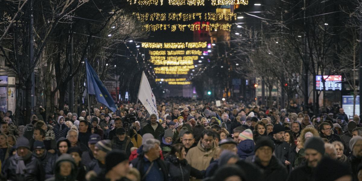
[{"label": "dark-haired man in beige coat looking down, near the front", "polygon": [[209,167],[210,160],[214,156],[216,149],[214,136],[214,132],[211,130],[204,130],[197,146],[187,152],[186,160],[191,167],[198,170],[205,170]]}]

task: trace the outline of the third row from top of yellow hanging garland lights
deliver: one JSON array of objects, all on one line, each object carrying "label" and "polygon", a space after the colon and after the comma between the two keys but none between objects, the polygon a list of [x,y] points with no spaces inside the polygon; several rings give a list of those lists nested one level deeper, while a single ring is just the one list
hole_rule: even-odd
[{"label": "third row from top of yellow hanging garland lights", "polygon": [[225,30],[230,31],[231,24],[188,24],[188,25],[182,25],[182,24],[146,24],[143,25],[143,31],[157,31],[157,30],[168,30],[171,28],[171,31],[176,31],[177,29],[180,31],[185,31],[185,28],[190,29],[191,31],[198,31],[200,29],[204,29],[206,31],[212,31],[212,30]]}]

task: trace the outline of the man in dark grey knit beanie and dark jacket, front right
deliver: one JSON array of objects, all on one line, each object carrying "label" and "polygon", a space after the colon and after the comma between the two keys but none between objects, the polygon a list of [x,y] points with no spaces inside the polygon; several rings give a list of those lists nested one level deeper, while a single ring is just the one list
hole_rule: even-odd
[{"label": "man in dark grey knit beanie and dark jacket, front right", "polygon": [[[324,142],[319,137],[311,137],[304,144],[306,162],[295,168],[288,181],[314,180],[316,167],[325,153]],[[318,173],[319,174],[319,173]]]}]

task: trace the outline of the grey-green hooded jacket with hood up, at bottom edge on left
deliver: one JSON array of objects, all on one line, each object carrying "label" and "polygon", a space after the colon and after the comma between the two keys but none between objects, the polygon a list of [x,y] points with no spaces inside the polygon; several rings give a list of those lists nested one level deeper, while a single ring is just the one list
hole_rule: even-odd
[{"label": "grey-green hooded jacket with hood up, at bottom edge on left", "polygon": [[[71,163],[72,171],[69,176],[61,176],[60,171],[60,164],[63,161],[69,161]],[[55,169],[54,169],[55,176],[52,178],[48,178],[46,181],[75,181],[77,178],[77,165],[75,164],[75,161],[70,154],[63,154],[59,156],[59,158],[56,160],[55,163]]]}]

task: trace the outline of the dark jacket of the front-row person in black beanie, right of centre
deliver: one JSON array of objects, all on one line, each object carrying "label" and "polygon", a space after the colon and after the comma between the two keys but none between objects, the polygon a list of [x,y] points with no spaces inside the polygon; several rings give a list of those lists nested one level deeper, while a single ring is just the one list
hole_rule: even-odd
[{"label": "dark jacket of the front-row person in black beanie, right of centre", "polygon": [[261,169],[262,181],[286,181],[288,177],[287,169],[274,155],[268,166],[264,167],[257,156],[249,156],[245,161],[254,163]]}]

